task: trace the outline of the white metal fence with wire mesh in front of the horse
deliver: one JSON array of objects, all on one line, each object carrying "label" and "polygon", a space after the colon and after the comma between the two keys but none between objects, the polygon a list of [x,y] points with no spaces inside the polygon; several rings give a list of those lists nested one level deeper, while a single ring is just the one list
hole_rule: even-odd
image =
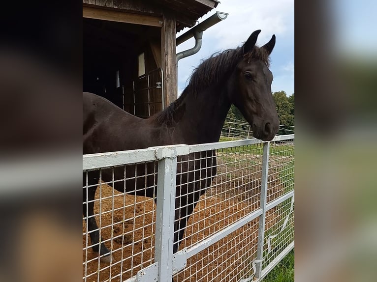
[{"label": "white metal fence with wire mesh in front of the horse", "polygon": [[112,259],[93,252],[83,220],[83,281],[261,281],[294,247],[294,135],[84,155],[83,172],[95,170],[93,217]]}]

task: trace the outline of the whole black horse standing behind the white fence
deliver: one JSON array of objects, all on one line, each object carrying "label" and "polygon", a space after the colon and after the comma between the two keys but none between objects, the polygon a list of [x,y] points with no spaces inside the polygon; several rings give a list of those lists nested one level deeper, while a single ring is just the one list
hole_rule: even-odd
[{"label": "whole black horse standing behind the white fence", "polygon": [[[259,32],[252,32],[241,47],[204,60],[192,73],[182,95],[165,110],[148,119],[136,117],[100,96],[84,92],[83,154],[217,142],[232,103],[251,124],[255,138],[272,140],[279,130],[279,118],[271,94],[273,76],[269,70],[275,35],[267,44],[257,47],[255,43]],[[177,177],[174,253],[178,251],[188,218],[200,195],[205,193],[216,175],[215,151],[191,154],[178,161],[187,162],[177,168],[177,172],[183,174]],[[199,171],[197,168],[200,168]],[[147,165],[147,169],[136,167],[137,174],[140,171],[150,174],[154,170],[153,164]],[[114,174],[116,179],[122,179],[124,169],[115,169]],[[126,166],[126,174],[135,175],[135,165]],[[112,180],[113,175],[111,171],[103,170],[101,177],[107,182]],[[108,261],[110,251],[103,243],[99,246],[99,231],[93,231],[98,228],[93,217],[98,180],[99,171],[90,171],[88,175],[83,173],[83,215],[86,219],[88,196],[88,216],[92,217],[87,224],[93,250],[104,255],[101,257],[103,261]],[[87,181],[93,187],[86,189]],[[155,181],[153,176],[139,177],[137,180],[126,180],[126,183],[117,182],[113,188],[153,197],[157,191],[145,187],[153,187]]]}]

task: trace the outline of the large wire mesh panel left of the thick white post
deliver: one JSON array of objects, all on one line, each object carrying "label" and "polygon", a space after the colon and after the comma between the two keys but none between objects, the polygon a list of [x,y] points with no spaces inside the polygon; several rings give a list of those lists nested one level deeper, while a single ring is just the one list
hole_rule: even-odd
[{"label": "large wire mesh panel left of the thick white post", "polygon": [[[154,263],[156,204],[151,191],[157,187],[157,162],[99,169],[99,183],[93,185],[88,185],[88,171],[83,172],[83,189],[97,186],[94,218],[102,242],[113,255],[111,263],[100,261],[92,250],[93,231],[83,218],[83,281],[124,281]],[[144,197],[147,191],[150,197]]]}]

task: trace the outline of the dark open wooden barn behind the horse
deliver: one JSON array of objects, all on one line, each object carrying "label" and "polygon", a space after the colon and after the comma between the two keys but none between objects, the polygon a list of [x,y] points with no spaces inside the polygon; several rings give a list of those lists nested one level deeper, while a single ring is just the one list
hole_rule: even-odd
[{"label": "dark open wooden barn behind the horse", "polygon": [[176,33],[218,0],[83,0],[83,91],[148,117],[177,98]]}]

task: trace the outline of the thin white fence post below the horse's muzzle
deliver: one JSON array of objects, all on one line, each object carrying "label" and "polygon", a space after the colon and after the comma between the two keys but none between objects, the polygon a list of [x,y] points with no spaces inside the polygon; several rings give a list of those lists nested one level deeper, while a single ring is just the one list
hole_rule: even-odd
[{"label": "thin white fence post below the horse's muzzle", "polygon": [[268,159],[270,155],[270,142],[263,144],[263,158],[262,158],[262,180],[260,185],[260,208],[262,214],[259,217],[258,230],[258,247],[255,259],[255,278],[257,280],[262,274],[263,265],[263,244],[264,244],[264,227],[266,223],[266,205],[267,205],[267,182],[268,182]]}]

